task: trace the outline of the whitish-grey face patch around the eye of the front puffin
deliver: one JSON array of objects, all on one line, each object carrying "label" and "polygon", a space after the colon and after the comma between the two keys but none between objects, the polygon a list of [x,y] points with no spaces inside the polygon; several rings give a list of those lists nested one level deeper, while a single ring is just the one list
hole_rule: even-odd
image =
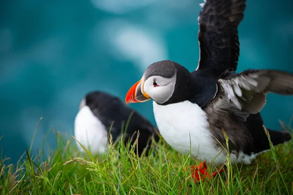
[{"label": "whitish-grey face patch around the eye of the front puffin", "polygon": [[[154,82],[158,86],[154,86]],[[173,95],[176,84],[176,74],[172,78],[151,76],[144,83],[144,91],[157,103],[165,103]],[[142,92],[143,93],[143,92]]]}]

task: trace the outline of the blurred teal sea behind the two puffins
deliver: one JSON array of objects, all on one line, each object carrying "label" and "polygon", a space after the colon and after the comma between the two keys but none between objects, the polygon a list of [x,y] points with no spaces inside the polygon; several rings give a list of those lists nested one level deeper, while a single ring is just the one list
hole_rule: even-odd
[{"label": "blurred teal sea behind the two puffins", "polygon": [[[104,90],[124,100],[146,67],[171,59],[192,71],[198,61],[202,0],[2,0],[0,3],[0,140],[16,162],[49,129],[73,135],[80,100]],[[240,24],[237,71],[293,72],[293,1],[248,0]],[[293,97],[269,95],[269,128],[289,122]],[[152,102],[130,104],[155,123]],[[51,135],[51,134],[49,134]],[[48,143],[54,143],[52,136]],[[54,144],[53,144],[54,145]]]}]

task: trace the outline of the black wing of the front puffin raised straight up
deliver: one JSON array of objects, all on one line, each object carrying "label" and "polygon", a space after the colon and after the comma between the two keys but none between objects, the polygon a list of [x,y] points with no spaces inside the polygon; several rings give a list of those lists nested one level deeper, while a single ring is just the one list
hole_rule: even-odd
[{"label": "black wing of the front puffin raised straight up", "polygon": [[236,70],[237,28],[244,17],[245,3],[246,0],[206,0],[198,17],[200,60],[197,69],[209,68],[216,75],[228,69]]}]

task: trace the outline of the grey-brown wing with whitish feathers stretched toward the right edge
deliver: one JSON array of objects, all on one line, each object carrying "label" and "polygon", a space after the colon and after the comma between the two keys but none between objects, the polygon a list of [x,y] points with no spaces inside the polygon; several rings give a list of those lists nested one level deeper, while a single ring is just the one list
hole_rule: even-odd
[{"label": "grey-brown wing with whitish feathers stretched toward the right edge", "polygon": [[[275,70],[247,70],[218,80],[226,106],[255,114],[266,104],[267,94],[293,95],[293,74]],[[223,103],[223,102],[222,102]],[[225,107],[218,104],[219,108]]]}]

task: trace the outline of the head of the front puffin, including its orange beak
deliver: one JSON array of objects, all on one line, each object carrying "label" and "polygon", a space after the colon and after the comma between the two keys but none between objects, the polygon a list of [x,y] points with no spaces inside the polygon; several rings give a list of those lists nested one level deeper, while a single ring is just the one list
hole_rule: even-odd
[{"label": "head of the front puffin, including its orange beak", "polygon": [[[155,62],[146,68],[141,79],[131,87],[126,102],[154,100],[160,105],[188,100],[193,79],[189,71],[171,60]],[[142,98],[143,97],[143,98]]]}]

